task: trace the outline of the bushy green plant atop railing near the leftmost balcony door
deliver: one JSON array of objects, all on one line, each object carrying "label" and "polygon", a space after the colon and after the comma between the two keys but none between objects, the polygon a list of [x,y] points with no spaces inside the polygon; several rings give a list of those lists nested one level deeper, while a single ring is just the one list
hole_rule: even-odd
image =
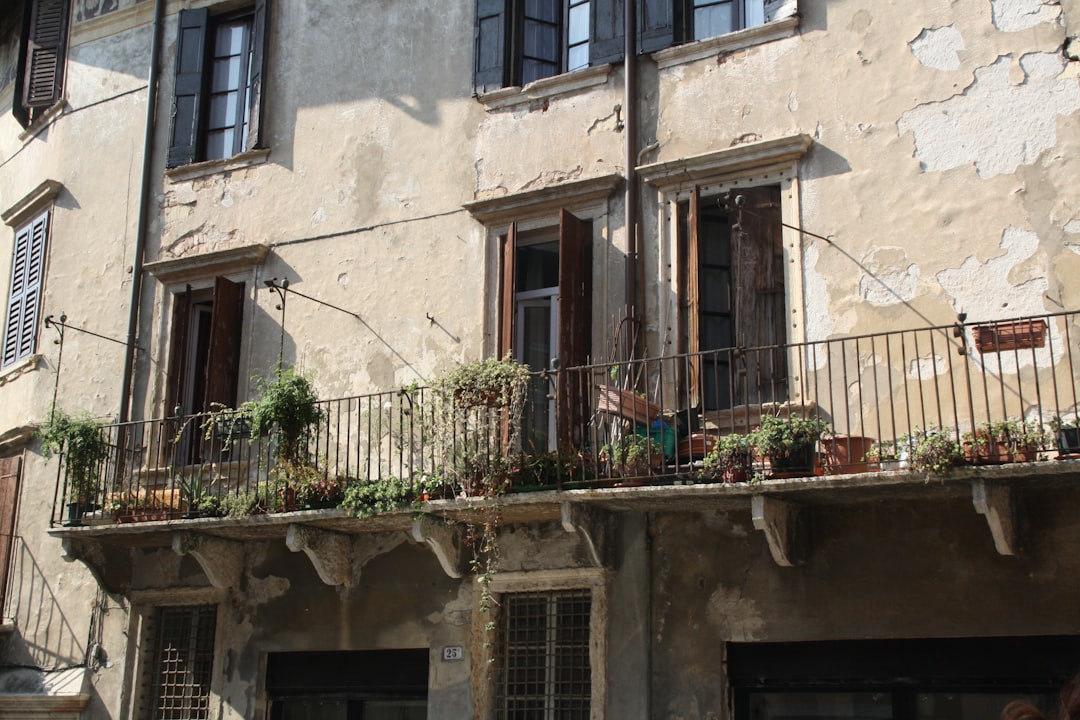
[{"label": "bushy green plant atop railing near the leftmost balcony door", "polygon": [[307,433],[323,417],[311,380],[294,368],[276,370],[258,384],[259,399],[245,403],[252,433],[278,430],[278,459],[293,463],[307,460]]}]

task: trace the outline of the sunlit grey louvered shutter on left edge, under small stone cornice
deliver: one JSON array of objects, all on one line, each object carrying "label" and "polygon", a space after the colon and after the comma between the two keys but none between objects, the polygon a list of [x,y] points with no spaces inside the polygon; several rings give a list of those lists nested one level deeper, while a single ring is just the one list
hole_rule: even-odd
[{"label": "sunlit grey louvered shutter on left edge, under small stone cornice", "polygon": [[15,233],[3,339],[4,367],[33,354],[37,347],[49,215],[45,210]]}]

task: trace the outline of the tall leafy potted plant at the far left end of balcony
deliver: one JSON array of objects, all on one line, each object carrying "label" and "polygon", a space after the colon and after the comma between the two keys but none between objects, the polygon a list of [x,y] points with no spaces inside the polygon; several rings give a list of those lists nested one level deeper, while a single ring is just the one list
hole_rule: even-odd
[{"label": "tall leafy potted plant at the far left end of balcony", "polygon": [[85,513],[96,511],[98,475],[109,457],[109,440],[102,423],[89,413],[68,415],[54,410],[38,431],[41,454],[64,459],[68,524],[78,525]]}]

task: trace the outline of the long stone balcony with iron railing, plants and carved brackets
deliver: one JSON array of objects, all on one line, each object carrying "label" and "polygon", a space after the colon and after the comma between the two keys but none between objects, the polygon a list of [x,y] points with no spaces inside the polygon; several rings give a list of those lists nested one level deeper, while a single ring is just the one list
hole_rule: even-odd
[{"label": "long stone balcony with iron railing, plants and carved brackets", "polygon": [[[807,507],[963,498],[1011,555],[1016,494],[1080,474],[1068,462],[1080,452],[1077,320],[566,368],[532,375],[519,413],[431,388],[321,400],[302,460],[289,462],[276,427],[253,433],[235,411],[109,425],[107,458],[79,502],[66,502],[73,480],[62,459],[51,532],[83,559],[95,543],[185,552],[199,538],[285,539],[311,551],[327,538],[404,532],[458,575],[460,538],[442,536],[435,518],[454,532],[497,504],[504,524],[562,521],[599,536],[613,513],[715,508],[751,513],[774,559],[794,565]],[[762,429],[791,444],[805,420],[815,427],[802,466],[770,454]],[[743,474],[717,463],[717,447],[744,448]]]}]

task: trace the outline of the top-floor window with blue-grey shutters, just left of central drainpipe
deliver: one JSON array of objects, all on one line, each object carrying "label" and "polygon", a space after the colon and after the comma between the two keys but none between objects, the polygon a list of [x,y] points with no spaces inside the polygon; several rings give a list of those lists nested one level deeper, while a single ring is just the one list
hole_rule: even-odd
[{"label": "top-floor window with blue-grey shutters, just left of central drainpipe", "polygon": [[477,94],[622,57],[619,0],[476,0]]}]

